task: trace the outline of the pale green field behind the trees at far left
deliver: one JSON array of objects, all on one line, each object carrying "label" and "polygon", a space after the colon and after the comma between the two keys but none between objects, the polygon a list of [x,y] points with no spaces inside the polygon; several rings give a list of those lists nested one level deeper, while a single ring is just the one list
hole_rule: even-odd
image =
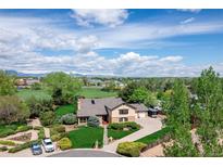
[{"label": "pale green field behind the trees at far left", "polygon": [[22,89],[18,90],[16,94],[25,101],[28,100],[30,97],[46,100],[51,99],[51,95],[46,90]]}]

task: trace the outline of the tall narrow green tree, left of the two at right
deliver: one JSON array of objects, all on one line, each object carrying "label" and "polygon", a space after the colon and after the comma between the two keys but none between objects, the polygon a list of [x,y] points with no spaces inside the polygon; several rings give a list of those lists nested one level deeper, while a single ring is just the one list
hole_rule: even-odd
[{"label": "tall narrow green tree, left of the two at right", "polygon": [[168,126],[172,129],[173,144],[166,146],[166,156],[198,156],[190,134],[188,90],[182,80],[176,80],[166,108]]}]

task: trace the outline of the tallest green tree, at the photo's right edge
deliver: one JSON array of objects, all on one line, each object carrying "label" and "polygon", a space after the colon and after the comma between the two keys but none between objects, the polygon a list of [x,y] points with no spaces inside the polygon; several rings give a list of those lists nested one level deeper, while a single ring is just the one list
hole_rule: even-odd
[{"label": "tallest green tree, at the photo's right edge", "polygon": [[212,67],[202,70],[197,81],[197,113],[202,156],[223,156],[223,146],[219,138],[223,133],[223,90],[222,81]]}]

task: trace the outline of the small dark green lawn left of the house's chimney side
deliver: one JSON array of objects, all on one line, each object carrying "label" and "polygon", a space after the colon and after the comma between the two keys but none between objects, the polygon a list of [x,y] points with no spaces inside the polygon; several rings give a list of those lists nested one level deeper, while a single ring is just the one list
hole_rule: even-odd
[{"label": "small dark green lawn left of the house's chimney side", "polygon": [[74,113],[76,114],[76,111],[77,111],[77,106],[76,104],[66,104],[66,105],[62,105],[62,106],[59,106],[57,110],[55,110],[55,115],[58,117],[61,117],[65,114],[69,114],[69,113]]}]

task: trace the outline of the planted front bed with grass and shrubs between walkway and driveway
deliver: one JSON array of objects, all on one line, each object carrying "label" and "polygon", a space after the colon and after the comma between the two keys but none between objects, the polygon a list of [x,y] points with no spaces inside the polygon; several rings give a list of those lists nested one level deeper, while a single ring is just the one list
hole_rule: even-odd
[{"label": "planted front bed with grass and shrubs between walkway and driveway", "polygon": [[139,129],[140,126],[134,121],[114,123],[110,124],[108,127],[108,137],[116,140],[124,138]]}]

